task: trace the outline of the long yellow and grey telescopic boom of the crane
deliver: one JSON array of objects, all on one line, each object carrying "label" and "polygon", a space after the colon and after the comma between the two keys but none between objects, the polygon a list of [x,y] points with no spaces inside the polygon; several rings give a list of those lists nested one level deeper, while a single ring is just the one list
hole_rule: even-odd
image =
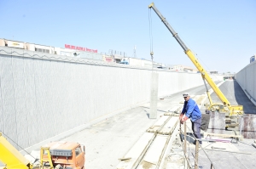
[{"label": "long yellow and grey telescopic boom of the crane", "polygon": [[[180,46],[183,48],[185,54],[189,56],[189,59],[193,62],[195,67],[201,72],[203,79],[206,79],[209,85],[212,87],[213,91],[217,94],[218,98],[222,101],[224,106],[227,106],[230,110],[230,115],[241,115],[242,114],[242,105],[230,105],[230,102],[224,96],[224,93],[218,88],[218,86],[212,81],[212,78],[208,75],[207,70],[205,70],[199,61],[195,58],[195,55],[191,52],[189,48],[183,43],[183,41],[178,37],[177,33],[172,29],[172,26],[169,25],[166,18],[160,14],[160,11],[154,6],[154,3],[151,3],[148,8],[153,8],[154,12],[160,17],[160,20],[166,25],[167,29],[171,31],[172,36],[177,40]],[[211,101],[211,100],[210,100]]]}]

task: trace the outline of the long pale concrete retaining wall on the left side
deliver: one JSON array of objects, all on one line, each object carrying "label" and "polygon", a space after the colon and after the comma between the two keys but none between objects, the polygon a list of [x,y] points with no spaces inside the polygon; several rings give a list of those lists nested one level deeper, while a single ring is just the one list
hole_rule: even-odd
[{"label": "long pale concrete retaining wall on the left side", "polygon": [[[203,84],[198,73],[157,72],[159,96]],[[30,147],[148,101],[150,75],[129,65],[0,48],[0,130]]]}]

